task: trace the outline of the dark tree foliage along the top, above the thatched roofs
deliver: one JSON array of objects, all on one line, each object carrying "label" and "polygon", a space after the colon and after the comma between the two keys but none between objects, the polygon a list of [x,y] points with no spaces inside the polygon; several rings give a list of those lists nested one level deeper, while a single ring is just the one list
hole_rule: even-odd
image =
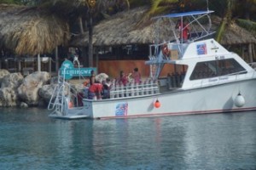
[{"label": "dark tree foliage along the top, above the thatched roofs", "polygon": [[[253,32],[253,35],[255,35],[256,30],[256,0],[0,0],[0,3],[25,4],[37,6],[38,9],[47,9],[65,19],[69,19],[72,27],[80,18],[86,23],[84,26],[88,28],[91,36],[93,26],[98,20],[127,8],[145,5],[150,8],[139,24],[157,14],[206,10],[209,8],[223,19],[216,34],[218,41],[221,40],[226,27],[232,22],[236,22],[248,31]],[[83,28],[83,26],[80,26],[80,28]],[[90,49],[90,53],[92,53],[92,49]]]}]

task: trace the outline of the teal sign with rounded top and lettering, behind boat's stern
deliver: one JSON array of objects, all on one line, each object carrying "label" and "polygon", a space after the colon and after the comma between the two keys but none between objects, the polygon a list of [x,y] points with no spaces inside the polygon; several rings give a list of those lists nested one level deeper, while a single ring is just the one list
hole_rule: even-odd
[{"label": "teal sign with rounded top and lettering, behind boat's stern", "polygon": [[73,63],[66,59],[61,65],[61,77],[69,80],[72,77],[90,77],[90,71],[94,71],[96,73],[96,68],[87,67],[87,68],[74,68]]}]

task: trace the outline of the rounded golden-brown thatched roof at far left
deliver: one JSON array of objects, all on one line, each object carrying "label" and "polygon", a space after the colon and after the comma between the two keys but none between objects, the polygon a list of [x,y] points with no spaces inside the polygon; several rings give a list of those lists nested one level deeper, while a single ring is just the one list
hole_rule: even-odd
[{"label": "rounded golden-brown thatched roof at far left", "polygon": [[0,5],[0,48],[15,54],[44,54],[67,43],[69,26],[40,8]]}]

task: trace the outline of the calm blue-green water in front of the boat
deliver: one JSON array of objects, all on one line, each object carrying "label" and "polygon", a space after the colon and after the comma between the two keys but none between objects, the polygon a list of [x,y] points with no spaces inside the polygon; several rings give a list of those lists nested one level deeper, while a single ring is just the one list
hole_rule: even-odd
[{"label": "calm blue-green water in front of the boat", "polygon": [[104,121],[0,112],[3,170],[256,169],[256,112]]}]

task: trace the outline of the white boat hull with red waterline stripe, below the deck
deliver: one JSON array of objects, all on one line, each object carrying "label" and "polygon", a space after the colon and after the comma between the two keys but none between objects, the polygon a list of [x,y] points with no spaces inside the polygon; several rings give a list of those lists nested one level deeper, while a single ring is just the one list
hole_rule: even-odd
[{"label": "white boat hull with red waterline stripe, below the deck", "polygon": [[[218,84],[205,88],[171,91],[166,94],[122,99],[84,99],[84,111],[90,118],[126,118],[141,116],[172,116],[228,111],[256,110],[256,79]],[[235,105],[237,94],[245,99]],[[154,107],[156,99],[160,107]]]}]

